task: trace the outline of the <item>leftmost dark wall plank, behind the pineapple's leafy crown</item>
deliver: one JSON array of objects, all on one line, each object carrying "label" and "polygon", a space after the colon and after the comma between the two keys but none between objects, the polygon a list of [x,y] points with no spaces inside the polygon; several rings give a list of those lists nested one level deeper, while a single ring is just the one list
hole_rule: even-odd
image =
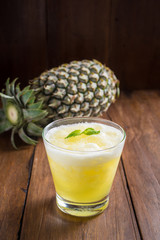
[{"label": "leftmost dark wall plank, behind the pineapple's leafy crown", "polygon": [[25,86],[47,68],[45,1],[1,2],[0,29],[0,88],[8,77]]}]

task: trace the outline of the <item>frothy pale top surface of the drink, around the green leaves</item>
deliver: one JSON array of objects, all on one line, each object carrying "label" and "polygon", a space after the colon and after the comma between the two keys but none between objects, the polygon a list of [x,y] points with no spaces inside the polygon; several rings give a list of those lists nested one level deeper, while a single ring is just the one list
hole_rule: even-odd
[{"label": "frothy pale top surface of the drink, around the green leaves", "polygon": [[[95,135],[80,135],[65,139],[74,130],[84,131],[93,128],[100,131]],[[48,131],[46,139],[55,146],[74,151],[96,151],[111,148],[117,145],[123,138],[122,133],[111,126],[100,123],[76,123],[62,125]]]}]

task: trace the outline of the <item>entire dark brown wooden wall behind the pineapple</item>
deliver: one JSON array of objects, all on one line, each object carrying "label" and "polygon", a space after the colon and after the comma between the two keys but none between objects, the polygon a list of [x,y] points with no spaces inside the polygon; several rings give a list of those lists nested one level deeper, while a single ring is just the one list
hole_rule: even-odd
[{"label": "entire dark brown wooden wall behind the pineapple", "polygon": [[0,7],[0,88],[95,58],[121,89],[160,88],[159,0],[10,0]]}]

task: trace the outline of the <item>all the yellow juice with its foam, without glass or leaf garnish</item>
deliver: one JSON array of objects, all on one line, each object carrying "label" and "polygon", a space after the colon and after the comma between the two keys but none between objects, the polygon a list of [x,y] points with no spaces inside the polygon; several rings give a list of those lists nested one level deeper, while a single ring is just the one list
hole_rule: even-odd
[{"label": "all the yellow juice with its foam, without glass or leaf garnish", "polygon": [[[92,127],[96,135],[80,135],[66,139],[72,131]],[[122,146],[112,149],[122,133],[99,123],[78,123],[54,128],[48,133],[46,146],[56,192],[68,201],[97,202],[111,189]]]}]

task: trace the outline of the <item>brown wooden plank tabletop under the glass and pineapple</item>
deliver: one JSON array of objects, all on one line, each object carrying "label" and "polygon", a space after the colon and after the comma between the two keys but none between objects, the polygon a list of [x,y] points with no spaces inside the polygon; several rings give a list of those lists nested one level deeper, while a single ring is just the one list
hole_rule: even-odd
[{"label": "brown wooden plank tabletop under the glass and pineapple", "polygon": [[76,218],[57,209],[42,140],[15,151],[0,137],[1,240],[160,240],[160,92],[121,94],[104,118],[127,140],[104,213]]}]

